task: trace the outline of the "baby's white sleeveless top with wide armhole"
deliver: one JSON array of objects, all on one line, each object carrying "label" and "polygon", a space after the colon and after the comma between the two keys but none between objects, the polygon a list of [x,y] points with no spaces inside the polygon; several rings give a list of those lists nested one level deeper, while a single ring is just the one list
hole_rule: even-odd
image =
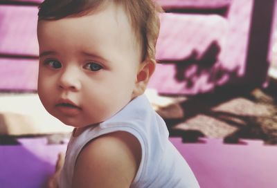
[{"label": "baby's white sleeveless top with wide armhole", "polygon": [[136,97],[113,117],[90,126],[78,137],[72,137],[60,176],[60,188],[70,188],[76,159],[87,142],[100,135],[126,131],[139,140],[141,164],[132,188],[194,188],[198,182],[187,162],[168,140],[163,119],[152,109],[145,95]]}]

